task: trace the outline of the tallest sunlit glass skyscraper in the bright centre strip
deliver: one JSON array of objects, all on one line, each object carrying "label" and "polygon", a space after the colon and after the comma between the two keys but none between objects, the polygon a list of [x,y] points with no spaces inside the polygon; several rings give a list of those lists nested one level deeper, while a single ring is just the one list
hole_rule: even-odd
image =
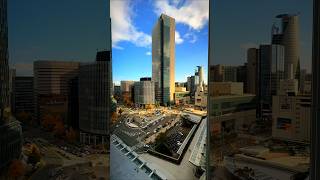
[{"label": "tallest sunlit glass skyscraper in the bright centre strip", "polygon": [[156,100],[162,105],[174,101],[175,20],[161,14],[152,31],[152,80]]}]

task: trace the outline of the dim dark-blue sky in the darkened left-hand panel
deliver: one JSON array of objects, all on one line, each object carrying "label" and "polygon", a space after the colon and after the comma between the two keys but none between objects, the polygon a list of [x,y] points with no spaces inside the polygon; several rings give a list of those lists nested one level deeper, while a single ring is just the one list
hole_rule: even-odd
[{"label": "dim dark-blue sky in the darkened left-hand panel", "polygon": [[106,48],[106,0],[8,0],[9,62],[31,75],[33,61],[94,61]]}]

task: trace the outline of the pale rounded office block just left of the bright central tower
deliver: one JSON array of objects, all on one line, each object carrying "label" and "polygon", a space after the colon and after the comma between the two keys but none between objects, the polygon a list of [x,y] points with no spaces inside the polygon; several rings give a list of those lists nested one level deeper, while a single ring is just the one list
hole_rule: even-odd
[{"label": "pale rounded office block just left of the bright central tower", "polygon": [[154,82],[151,78],[140,78],[134,83],[134,102],[140,106],[155,104]]}]

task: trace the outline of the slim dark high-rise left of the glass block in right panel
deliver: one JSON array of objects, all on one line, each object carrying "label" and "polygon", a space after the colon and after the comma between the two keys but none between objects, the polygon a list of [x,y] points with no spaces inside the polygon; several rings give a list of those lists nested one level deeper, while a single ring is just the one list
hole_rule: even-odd
[{"label": "slim dark high-rise left of the glass block in right panel", "polygon": [[258,93],[259,49],[250,48],[247,51],[247,93]]}]

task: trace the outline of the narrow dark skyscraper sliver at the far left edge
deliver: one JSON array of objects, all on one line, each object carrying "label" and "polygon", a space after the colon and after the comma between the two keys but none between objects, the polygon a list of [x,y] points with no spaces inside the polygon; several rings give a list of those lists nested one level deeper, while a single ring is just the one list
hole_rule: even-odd
[{"label": "narrow dark skyscraper sliver at the far left edge", "polygon": [[3,109],[9,106],[9,65],[8,65],[8,24],[7,0],[0,0],[0,108],[1,121]]}]

